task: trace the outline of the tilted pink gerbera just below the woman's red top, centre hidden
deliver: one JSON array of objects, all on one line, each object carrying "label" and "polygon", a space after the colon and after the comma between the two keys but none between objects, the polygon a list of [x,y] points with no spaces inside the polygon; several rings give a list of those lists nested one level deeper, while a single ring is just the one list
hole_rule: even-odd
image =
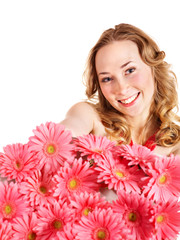
[{"label": "tilted pink gerbera just below the woman's red top, centre hidden", "polygon": [[157,158],[149,148],[138,144],[117,146],[115,153],[129,160],[130,166],[140,165],[143,170],[146,170]]}]

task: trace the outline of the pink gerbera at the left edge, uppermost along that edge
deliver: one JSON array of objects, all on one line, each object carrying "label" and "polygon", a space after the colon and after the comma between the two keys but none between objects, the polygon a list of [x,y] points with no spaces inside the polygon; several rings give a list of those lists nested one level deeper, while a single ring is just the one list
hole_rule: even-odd
[{"label": "pink gerbera at the left edge, uppermost along that edge", "polygon": [[13,144],[4,147],[0,174],[8,180],[15,179],[17,182],[24,180],[29,172],[37,170],[39,160],[30,153],[28,145]]}]

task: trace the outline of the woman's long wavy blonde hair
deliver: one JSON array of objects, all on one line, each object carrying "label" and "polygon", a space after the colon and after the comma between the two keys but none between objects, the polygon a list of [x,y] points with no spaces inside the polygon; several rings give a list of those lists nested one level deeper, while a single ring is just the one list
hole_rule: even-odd
[{"label": "woman's long wavy blonde hair", "polygon": [[84,72],[86,95],[88,100],[98,99],[94,105],[97,109],[106,131],[112,139],[127,144],[131,140],[130,126],[122,113],[113,108],[103,96],[95,67],[98,50],[113,41],[130,40],[134,42],[145,64],[151,67],[155,80],[154,99],[150,115],[142,135],[143,142],[147,129],[153,124],[158,126],[156,142],[161,146],[172,146],[180,140],[178,110],[177,79],[170,70],[170,65],[164,61],[165,53],[159,50],[157,44],[141,29],[130,24],[119,24],[103,32],[95,46],[91,49]]}]

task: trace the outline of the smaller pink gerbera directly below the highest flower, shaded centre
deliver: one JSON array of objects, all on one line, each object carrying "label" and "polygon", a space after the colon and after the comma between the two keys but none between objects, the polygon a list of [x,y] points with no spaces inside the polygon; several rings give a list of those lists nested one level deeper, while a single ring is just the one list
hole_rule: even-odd
[{"label": "smaller pink gerbera directly below the highest flower, shaded centre", "polygon": [[53,201],[54,197],[51,192],[53,186],[51,176],[37,171],[22,182],[19,188],[24,199],[29,202],[30,206],[36,208],[40,204],[43,206]]}]

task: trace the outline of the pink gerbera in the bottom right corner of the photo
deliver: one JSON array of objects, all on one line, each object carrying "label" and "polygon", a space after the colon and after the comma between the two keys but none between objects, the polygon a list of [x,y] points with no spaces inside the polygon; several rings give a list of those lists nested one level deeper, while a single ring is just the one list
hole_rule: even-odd
[{"label": "pink gerbera in the bottom right corner of the photo", "polygon": [[155,206],[155,239],[176,239],[180,232],[180,203],[170,200]]}]

